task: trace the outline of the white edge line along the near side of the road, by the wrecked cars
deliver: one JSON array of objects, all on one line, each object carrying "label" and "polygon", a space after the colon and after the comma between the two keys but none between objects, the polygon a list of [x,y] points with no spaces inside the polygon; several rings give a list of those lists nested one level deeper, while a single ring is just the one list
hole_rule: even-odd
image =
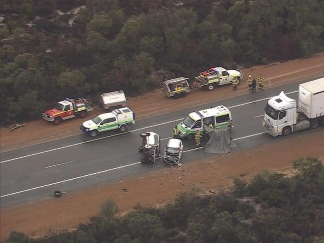
[{"label": "white edge line along the near side of the road, by the wrecked cars", "polygon": [[[237,141],[237,140],[241,140],[241,139],[245,139],[245,138],[249,138],[249,137],[261,135],[261,134],[264,134],[264,133],[266,133],[266,132],[259,132],[259,133],[251,134],[251,135],[248,135],[248,136],[243,136],[243,137],[235,138],[235,139],[233,139],[233,141]],[[201,147],[196,147],[196,148],[184,150],[183,153],[192,152],[192,151],[199,150],[199,149],[202,149],[202,148],[203,147],[201,146]],[[162,158],[162,156],[159,157],[159,158]],[[94,176],[94,175],[98,175],[98,174],[110,172],[110,171],[113,171],[113,170],[123,169],[123,168],[126,168],[126,167],[138,165],[138,164],[141,164],[141,162],[136,162],[136,163],[132,163],[132,164],[128,164],[128,165],[122,165],[122,166],[115,167],[115,168],[108,169],[108,170],[102,170],[102,171],[98,171],[98,172],[95,172],[95,173],[91,173],[91,174],[87,174],[87,175],[82,175],[82,176],[74,177],[74,178],[71,178],[71,179],[67,179],[67,180],[63,180],[63,181],[58,181],[58,182],[46,184],[46,185],[43,185],[43,186],[33,187],[33,188],[26,189],[26,190],[22,190],[22,191],[18,191],[18,192],[13,192],[13,193],[5,194],[5,195],[0,196],[0,198],[9,197],[9,196],[17,195],[17,194],[20,194],[20,193],[29,192],[29,191],[33,191],[33,190],[37,190],[37,189],[41,189],[41,188],[44,188],[44,187],[49,187],[49,186],[53,186],[53,185],[57,185],[57,184],[61,184],[61,183],[65,183],[65,182],[69,182],[69,181],[73,181],[73,180],[78,180],[78,179],[82,179],[82,178],[85,178],[85,177],[89,177],[89,176]]]}]

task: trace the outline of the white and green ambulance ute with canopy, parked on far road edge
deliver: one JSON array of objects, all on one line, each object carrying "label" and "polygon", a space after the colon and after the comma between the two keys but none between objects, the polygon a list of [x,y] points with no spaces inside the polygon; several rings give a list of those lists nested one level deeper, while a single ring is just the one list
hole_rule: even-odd
[{"label": "white and green ambulance ute with canopy, parked on far road edge", "polygon": [[83,122],[80,129],[84,133],[95,137],[102,131],[119,129],[121,132],[125,132],[130,124],[135,124],[135,113],[131,109],[124,107]]}]

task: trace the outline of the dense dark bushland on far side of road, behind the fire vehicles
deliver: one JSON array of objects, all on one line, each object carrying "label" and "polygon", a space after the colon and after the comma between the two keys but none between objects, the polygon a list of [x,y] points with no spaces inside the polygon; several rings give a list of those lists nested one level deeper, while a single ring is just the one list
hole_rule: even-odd
[{"label": "dense dark bushland on far side of road, behind the fire vehicles", "polygon": [[151,74],[194,77],[324,49],[321,0],[0,0],[0,122],[40,117],[53,102],[159,87]]}]

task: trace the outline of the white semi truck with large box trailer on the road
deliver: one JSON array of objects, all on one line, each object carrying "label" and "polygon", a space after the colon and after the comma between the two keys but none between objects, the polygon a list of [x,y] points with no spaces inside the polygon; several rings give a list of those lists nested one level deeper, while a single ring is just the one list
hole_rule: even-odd
[{"label": "white semi truck with large box trailer on the road", "polygon": [[262,124],[274,137],[324,125],[324,78],[299,85],[298,106],[283,91],[271,98]]}]

